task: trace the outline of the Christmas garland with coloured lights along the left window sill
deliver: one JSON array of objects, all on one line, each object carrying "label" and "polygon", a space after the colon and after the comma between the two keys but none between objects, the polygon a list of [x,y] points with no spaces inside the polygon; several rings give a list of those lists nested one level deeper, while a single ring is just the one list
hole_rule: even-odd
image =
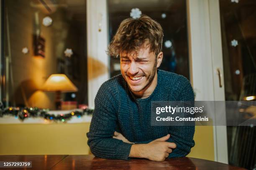
[{"label": "Christmas garland with coloured lights along the left window sill", "polygon": [[82,117],[84,115],[91,115],[93,109],[85,108],[82,111],[74,110],[70,113],[54,115],[48,113],[49,109],[39,109],[38,107],[6,107],[0,108],[0,117],[4,115],[12,115],[15,118],[19,118],[20,120],[25,120],[28,117],[42,117],[45,120],[53,120],[53,121],[67,121],[72,118],[72,116]]}]

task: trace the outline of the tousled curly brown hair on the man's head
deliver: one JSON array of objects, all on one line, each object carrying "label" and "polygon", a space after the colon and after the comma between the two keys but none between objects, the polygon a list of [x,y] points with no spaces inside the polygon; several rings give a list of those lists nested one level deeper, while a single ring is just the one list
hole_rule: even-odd
[{"label": "tousled curly brown hair on the man's head", "polygon": [[108,55],[118,56],[120,52],[137,52],[150,45],[150,52],[157,55],[162,49],[163,29],[159,23],[147,15],[138,19],[127,18],[120,26],[108,46]]}]

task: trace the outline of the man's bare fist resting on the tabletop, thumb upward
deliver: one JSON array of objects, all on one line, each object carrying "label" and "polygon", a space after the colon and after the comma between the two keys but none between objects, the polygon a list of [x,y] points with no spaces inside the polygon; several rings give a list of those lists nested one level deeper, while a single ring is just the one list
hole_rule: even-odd
[{"label": "man's bare fist resting on the tabletop, thumb upward", "polygon": [[164,161],[165,158],[172,153],[172,149],[176,148],[175,143],[166,142],[170,138],[170,134],[153,140],[148,144],[132,145],[130,157],[147,158],[154,161]]}]

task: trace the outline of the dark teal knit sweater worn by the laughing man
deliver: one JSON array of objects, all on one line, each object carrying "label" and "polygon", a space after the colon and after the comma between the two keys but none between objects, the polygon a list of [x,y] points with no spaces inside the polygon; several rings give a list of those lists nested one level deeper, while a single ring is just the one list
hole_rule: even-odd
[{"label": "dark teal knit sweater worn by the laughing man", "polygon": [[194,93],[183,76],[157,71],[154,92],[145,99],[136,99],[122,75],[104,82],[95,97],[95,110],[87,133],[91,152],[101,158],[128,160],[129,143],[113,139],[114,131],[133,143],[149,143],[167,134],[167,142],[177,144],[169,158],[184,157],[195,145],[195,126],[151,126],[151,101],[190,101]]}]

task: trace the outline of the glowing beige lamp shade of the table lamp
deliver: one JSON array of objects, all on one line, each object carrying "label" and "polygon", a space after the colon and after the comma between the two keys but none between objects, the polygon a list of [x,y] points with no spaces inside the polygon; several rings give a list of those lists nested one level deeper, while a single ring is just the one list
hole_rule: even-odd
[{"label": "glowing beige lamp shade of the table lamp", "polygon": [[77,92],[77,87],[64,74],[52,74],[44,83],[45,91]]}]

